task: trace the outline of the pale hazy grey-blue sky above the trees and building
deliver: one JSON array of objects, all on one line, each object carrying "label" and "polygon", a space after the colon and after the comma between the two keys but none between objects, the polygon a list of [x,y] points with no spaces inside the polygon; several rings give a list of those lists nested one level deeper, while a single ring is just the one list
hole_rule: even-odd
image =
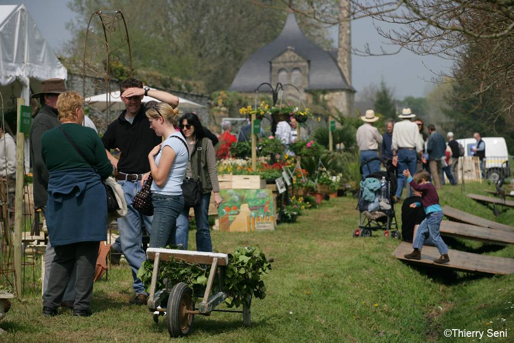
[{"label": "pale hazy grey-blue sky above the trees and building", "polygon": [[[57,52],[62,49],[63,43],[70,39],[65,24],[75,15],[66,3],[66,0],[0,0],[2,5],[25,4],[43,36]],[[128,24],[130,31],[130,23]],[[334,38],[337,38],[334,33],[336,32],[333,32]],[[360,19],[352,23],[354,47],[362,48],[365,43],[369,43],[373,50],[378,51],[381,42],[382,39],[370,19]],[[370,83],[379,84],[383,77],[387,85],[394,89],[396,98],[402,99],[409,95],[418,97],[423,96],[427,89],[432,87],[427,80],[430,81],[434,77],[434,72],[445,71],[448,67],[449,62],[446,60],[433,56],[420,57],[407,50],[394,56],[353,56],[353,86],[359,92]]]}]

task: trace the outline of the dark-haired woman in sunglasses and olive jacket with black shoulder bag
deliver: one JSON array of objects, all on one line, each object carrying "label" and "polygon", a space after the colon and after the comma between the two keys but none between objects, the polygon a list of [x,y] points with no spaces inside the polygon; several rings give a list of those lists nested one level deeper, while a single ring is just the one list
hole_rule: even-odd
[{"label": "dark-haired woman in sunglasses and olive jacket with black shoulder bag", "polygon": [[[219,196],[216,155],[212,142],[205,136],[200,120],[193,113],[186,113],[180,118],[180,131],[186,137],[189,149],[189,163],[186,178],[196,182],[198,179],[198,155],[200,154],[200,180],[202,185],[201,202],[193,207],[196,219],[196,250],[212,252],[212,241],[209,227],[209,202],[214,192],[214,206],[222,202]],[[193,172],[194,171],[194,172]],[[177,220],[177,244],[188,248],[189,207],[184,206]]]}]

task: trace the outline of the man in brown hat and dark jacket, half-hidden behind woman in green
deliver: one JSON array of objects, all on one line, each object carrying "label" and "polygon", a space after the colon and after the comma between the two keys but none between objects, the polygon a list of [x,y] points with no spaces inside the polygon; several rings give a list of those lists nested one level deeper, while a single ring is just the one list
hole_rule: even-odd
[{"label": "man in brown hat and dark jacket, half-hidden behind woman in green", "polygon": [[[32,98],[39,99],[41,110],[34,116],[30,127],[30,159],[32,161],[34,179],[34,208],[41,209],[43,214],[46,209],[48,190],[48,170],[46,169],[43,156],[41,155],[41,137],[50,129],[57,128],[61,122],[57,119],[57,98],[59,94],[66,92],[63,79],[48,79],[41,82],[41,92],[32,95]],[[48,240],[45,251],[45,278],[43,280],[43,292],[48,286],[50,265],[56,257],[56,251]],[[76,269],[74,269],[63,296],[63,305],[71,308],[75,302],[75,280]]]}]

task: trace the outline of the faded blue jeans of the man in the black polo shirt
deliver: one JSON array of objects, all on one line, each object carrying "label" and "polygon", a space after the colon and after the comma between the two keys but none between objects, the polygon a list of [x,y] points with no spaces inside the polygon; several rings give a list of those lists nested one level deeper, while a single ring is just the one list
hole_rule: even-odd
[{"label": "faded blue jeans of the man in the black polo shirt", "polygon": [[150,233],[152,216],[142,215],[132,206],[134,196],[141,189],[140,181],[118,180],[118,184],[123,188],[125,201],[127,203],[127,214],[122,218],[118,218],[121,252],[125,255],[125,259],[132,269],[132,277],[134,279],[132,287],[134,287],[134,291],[136,294],[145,293],[144,285],[141,280],[136,277],[136,273],[141,267],[141,264],[146,260],[146,255],[141,245],[141,224],[144,223],[146,231]]}]

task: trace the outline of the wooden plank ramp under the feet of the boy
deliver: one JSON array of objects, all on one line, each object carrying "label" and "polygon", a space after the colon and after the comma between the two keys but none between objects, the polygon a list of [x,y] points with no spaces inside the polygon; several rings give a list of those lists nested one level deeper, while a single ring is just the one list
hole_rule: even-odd
[{"label": "wooden plank ramp under the feet of the boy", "polygon": [[411,251],[411,243],[401,242],[396,250],[394,250],[393,255],[401,261],[457,270],[459,272],[500,275],[514,274],[514,259],[472,254],[471,252],[450,249],[448,251],[450,262],[439,264],[434,262],[434,260],[440,256],[435,246],[424,246],[421,250],[421,260],[409,260],[403,257],[403,255],[409,254]]}]

